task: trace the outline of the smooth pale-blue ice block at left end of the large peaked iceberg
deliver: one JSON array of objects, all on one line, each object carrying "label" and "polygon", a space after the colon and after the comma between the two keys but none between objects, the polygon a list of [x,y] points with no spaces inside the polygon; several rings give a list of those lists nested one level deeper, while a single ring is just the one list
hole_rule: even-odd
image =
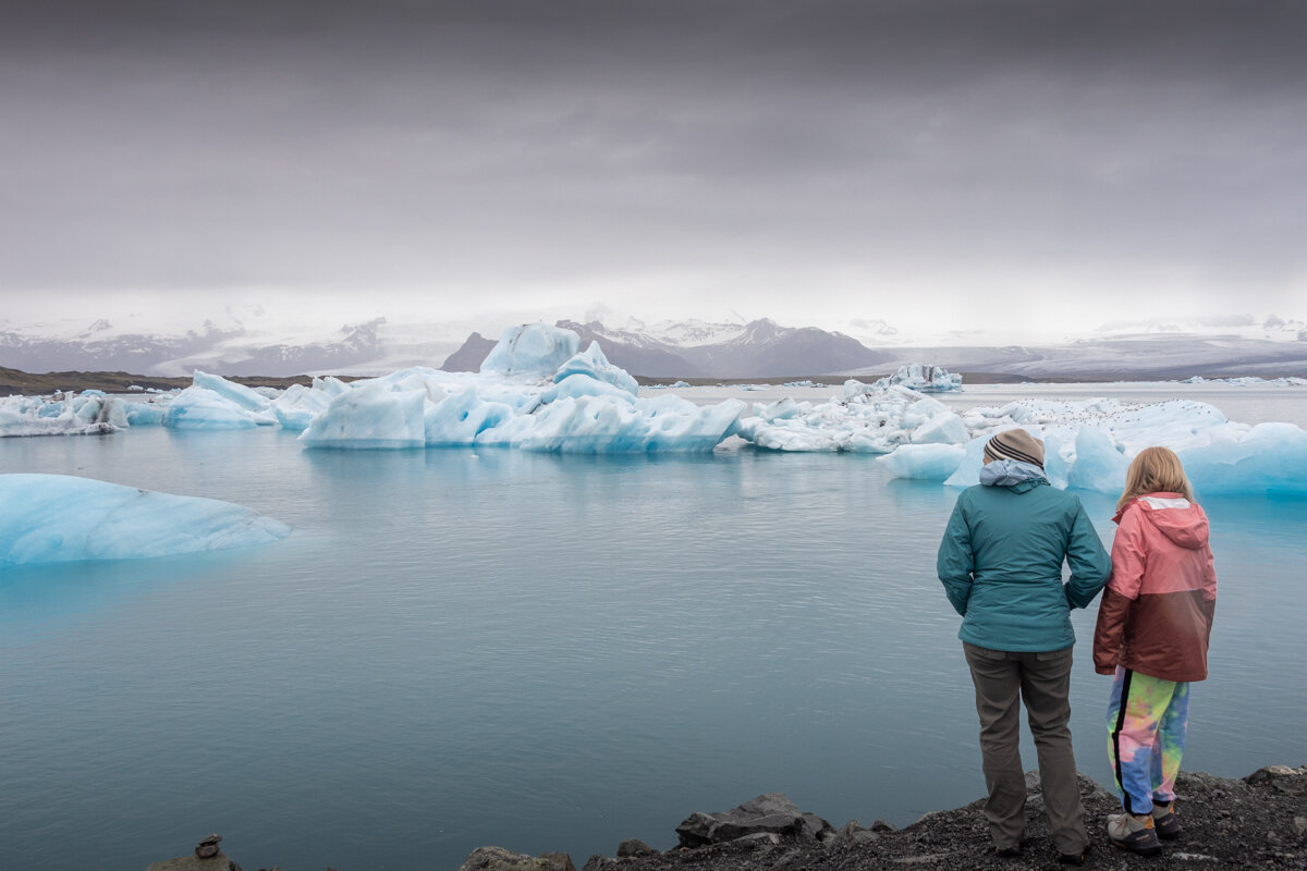
[{"label": "smooth pale-blue ice block at left end of the large peaked iceberg", "polygon": [[299,434],[311,448],[421,448],[426,444],[426,390],[365,384],[341,393]]}]

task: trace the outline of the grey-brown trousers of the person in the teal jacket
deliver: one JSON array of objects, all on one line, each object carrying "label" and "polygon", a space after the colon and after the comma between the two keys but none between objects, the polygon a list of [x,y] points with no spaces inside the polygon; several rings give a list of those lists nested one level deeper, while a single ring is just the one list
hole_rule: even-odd
[{"label": "grey-brown trousers of the person in the teal jacket", "polygon": [[1072,649],[1005,653],[962,642],[980,716],[980,755],[989,798],[984,804],[997,847],[1021,844],[1026,833],[1026,778],[1021,767],[1021,703],[1039,753],[1044,814],[1059,853],[1089,844],[1070,743]]}]

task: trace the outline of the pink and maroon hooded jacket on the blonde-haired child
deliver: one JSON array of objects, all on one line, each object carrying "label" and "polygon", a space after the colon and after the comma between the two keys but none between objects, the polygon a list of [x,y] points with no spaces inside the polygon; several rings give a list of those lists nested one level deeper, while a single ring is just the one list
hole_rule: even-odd
[{"label": "pink and maroon hooded jacket on the blonde-haired child", "polygon": [[1179,494],[1155,492],[1116,517],[1112,576],[1098,606],[1094,670],[1117,665],[1163,680],[1204,680],[1217,603],[1208,516]]}]

